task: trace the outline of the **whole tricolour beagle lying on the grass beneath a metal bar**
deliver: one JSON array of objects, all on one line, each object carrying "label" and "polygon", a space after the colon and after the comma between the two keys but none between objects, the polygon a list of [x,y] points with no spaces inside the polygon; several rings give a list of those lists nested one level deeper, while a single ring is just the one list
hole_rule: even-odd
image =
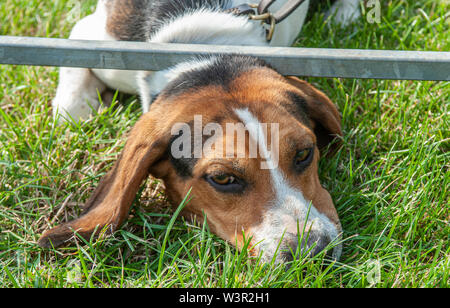
[{"label": "whole tricolour beagle lying on the grass beneath a metal bar", "polygon": [[[228,11],[245,2],[100,0],[71,38],[287,46],[309,5],[304,1],[277,25],[269,43],[260,22]],[[339,259],[341,224],[320,184],[318,161],[322,149],[338,146],[342,130],[324,93],[259,59],[208,56],[162,72],[62,68],[55,115],[88,116],[99,105],[97,91],[107,88],[139,94],[144,114],[84,213],[46,231],[40,246],[59,246],[74,232],[85,238],[114,232],[153,175],[164,181],[174,205],[190,192],[182,214],[206,219],[237,248],[250,238],[252,253],[282,262],[296,251],[315,255],[334,243],[329,252]]]}]

